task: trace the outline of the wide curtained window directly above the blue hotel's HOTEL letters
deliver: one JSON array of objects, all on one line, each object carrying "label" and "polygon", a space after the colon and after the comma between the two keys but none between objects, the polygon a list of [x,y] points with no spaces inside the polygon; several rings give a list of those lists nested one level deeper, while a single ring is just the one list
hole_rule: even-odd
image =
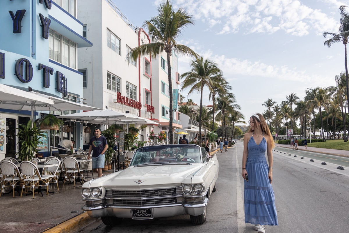
[{"label": "wide curtained window directly above the blue hotel's HOTEL letters", "polygon": [[76,68],[76,43],[49,29],[49,58]]}]

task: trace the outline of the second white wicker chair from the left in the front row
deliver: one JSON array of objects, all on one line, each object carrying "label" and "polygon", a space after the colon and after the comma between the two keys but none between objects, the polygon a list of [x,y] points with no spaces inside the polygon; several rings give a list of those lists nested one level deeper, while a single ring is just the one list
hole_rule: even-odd
[{"label": "second white wicker chair from the left in the front row", "polygon": [[32,193],[33,193],[33,198],[34,198],[34,194],[35,194],[35,186],[37,186],[39,188],[39,191],[41,191],[41,195],[44,196],[42,194],[42,187],[46,186],[46,195],[49,195],[49,177],[42,177],[40,172],[39,172],[39,168],[37,166],[35,166],[34,163],[29,162],[29,161],[22,161],[21,162],[21,170],[22,170],[22,175],[23,175],[23,180],[24,180],[24,184],[22,187],[22,192],[21,192],[21,198],[23,195],[23,190],[26,189],[32,189]]}]

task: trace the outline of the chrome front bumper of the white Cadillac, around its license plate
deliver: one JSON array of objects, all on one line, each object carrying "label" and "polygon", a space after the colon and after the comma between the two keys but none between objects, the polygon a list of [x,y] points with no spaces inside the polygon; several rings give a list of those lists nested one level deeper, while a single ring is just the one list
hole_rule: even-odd
[{"label": "chrome front bumper of the white Cadillac, around its license plate", "polygon": [[[89,216],[94,218],[100,217],[118,217],[118,218],[133,218],[132,209],[151,209],[152,218],[161,218],[161,217],[172,217],[181,214],[190,214],[193,216],[198,216],[202,214],[206,205],[208,204],[208,198],[206,197],[203,202],[198,204],[193,203],[178,203],[171,205],[155,205],[155,206],[112,206],[106,203],[88,206],[84,205],[82,210],[85,210]],[[143,218],[144,219],[144,218]],[[151,219],[151,218],[149,218]]]}]

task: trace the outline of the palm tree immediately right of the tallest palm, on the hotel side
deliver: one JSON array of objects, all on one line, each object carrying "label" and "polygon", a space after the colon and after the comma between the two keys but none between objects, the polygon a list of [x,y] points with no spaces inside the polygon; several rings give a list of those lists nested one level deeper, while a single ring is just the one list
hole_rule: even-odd
[{"label": "palm tree immediately right of the tallest palm, on the hotel side", "polygon": [[193,60],[191,70],[181,75],[185,78],[182,82],[181,90],[190,88],[188,95],[192,93],[200,93],[200,111],[199,111],[199,145],[201,145],[201,117],[202,117],[202,96],[203,88],[217,86],[220,78],[218,78],[221,70],[217,64],[211,60],[202,57]]}]

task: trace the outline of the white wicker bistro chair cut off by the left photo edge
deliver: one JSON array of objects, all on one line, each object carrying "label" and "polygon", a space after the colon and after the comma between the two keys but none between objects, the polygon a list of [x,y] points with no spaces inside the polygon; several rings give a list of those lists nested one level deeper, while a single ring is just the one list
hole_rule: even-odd
[{"label": "white wicker bistro chair cut off by the left photo edge", "polygon": [[16,186],[23,182],[17,165],[11,161],[2,160],[0,162],[0,170],[2,173],[0,197],[2,193],[9,193],[5,191],[7,189],[12,189],[13,197],[15,197]]}]

